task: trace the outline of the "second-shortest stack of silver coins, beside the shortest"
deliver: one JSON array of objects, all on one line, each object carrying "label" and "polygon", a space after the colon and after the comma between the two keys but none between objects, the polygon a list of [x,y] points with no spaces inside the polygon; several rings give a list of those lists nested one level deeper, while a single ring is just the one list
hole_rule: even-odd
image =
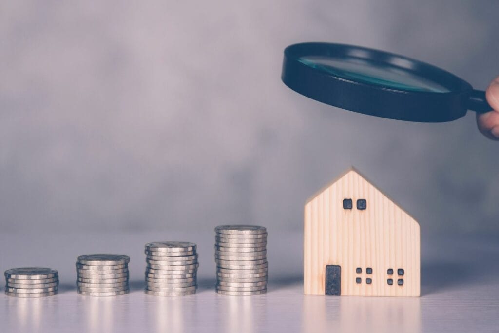
[{"label": "second-shortest stack of silver coins, beside the shortest", "polygon": [[78,257],[76,287],[85,296],[128,294],[128,263],[123,255],[95,254]]}]

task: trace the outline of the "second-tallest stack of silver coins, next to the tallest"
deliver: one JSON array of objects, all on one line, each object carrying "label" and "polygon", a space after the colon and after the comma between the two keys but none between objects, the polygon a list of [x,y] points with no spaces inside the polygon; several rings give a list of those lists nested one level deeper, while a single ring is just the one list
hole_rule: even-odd
[{"label": "second-tallest stack of silver coins, next to the tallest", "polygon": [[196,244],[188,242],[147,243],[146,294],[186,296],[198,288]]}]

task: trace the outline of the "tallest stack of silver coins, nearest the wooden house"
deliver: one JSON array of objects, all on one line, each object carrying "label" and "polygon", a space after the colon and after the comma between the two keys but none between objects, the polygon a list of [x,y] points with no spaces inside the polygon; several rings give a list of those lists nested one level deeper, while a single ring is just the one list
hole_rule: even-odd
[{"label": "tallest stack of silver coins, nearest the wooden house", "polygon": [[267,291],[267,230],[231,225],[215,228],[217,293],[250,296]]}]

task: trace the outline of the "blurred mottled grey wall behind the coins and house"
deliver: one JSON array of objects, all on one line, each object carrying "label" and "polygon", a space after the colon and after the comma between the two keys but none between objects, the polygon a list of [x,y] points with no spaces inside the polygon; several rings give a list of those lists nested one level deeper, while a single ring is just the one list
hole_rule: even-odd
[{"label": "blurred mottled grey wall behind the coins and house", "polygon": [[343,111],[280,81],[301,41],[384,49],[485,89],[499,1],[3,1],[0,229],[302,229],[356,166],[422,233],[499,235],[499,143],[475,115]]}]

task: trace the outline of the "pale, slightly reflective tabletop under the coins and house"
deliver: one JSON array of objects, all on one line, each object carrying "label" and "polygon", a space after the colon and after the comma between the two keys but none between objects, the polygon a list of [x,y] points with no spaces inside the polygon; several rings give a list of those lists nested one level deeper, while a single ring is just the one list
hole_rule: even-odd
[{"label": "pale, slightly reflective tabletop under the coins and house", "polygon": [[[2,233],[0,269],[57,269],[60,291],[41,299],[0,296],[0,332],[499,332],[499,241],[492,237],[422,237],[422,297],[303,296],[302,234],[269,230],[268,292],[214,292],[213,233]],[[143,246],[155,240],[198,243],[198,293],[143,293]],[[131,293],[82,297],[78,255],[127,254]]]}]

